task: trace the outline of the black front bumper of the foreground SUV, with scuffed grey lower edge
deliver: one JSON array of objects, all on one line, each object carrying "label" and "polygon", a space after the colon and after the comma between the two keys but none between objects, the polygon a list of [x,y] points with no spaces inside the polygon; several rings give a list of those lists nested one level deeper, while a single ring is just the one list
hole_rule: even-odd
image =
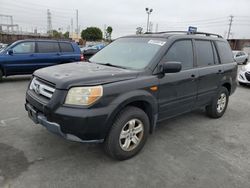
[{"label": "black front bumper of the foreground SUV, with scuffed grey lower edge", "polygon": [[77,108],[63,105],[64,91],[55,91],[51,100],[43,101],[28,90],[25,109],[30,118],[66,139],[102,142],[108,134],[110,113],[115,106]]}]

